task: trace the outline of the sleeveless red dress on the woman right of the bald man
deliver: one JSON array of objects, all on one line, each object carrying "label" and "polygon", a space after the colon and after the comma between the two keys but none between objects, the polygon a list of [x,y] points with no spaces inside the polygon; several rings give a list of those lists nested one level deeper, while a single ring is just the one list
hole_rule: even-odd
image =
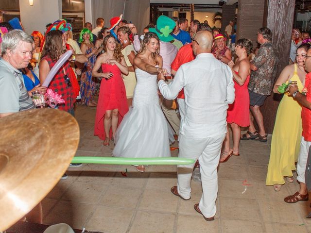
[{"label": "sleeveless red dress on the woman right of the bald man", "polygon": [[[234,71],[236,72],[236,71]],[[238,72],[236,72],[238,74]],[[249,94],[248,94],[248,83],[249,77],[247,76],[245,83],[240,86],[235,80],[235,100],[232,104],[229,104],[227,110],[227,123],[236,123],[241,127],[249,126]]]}]

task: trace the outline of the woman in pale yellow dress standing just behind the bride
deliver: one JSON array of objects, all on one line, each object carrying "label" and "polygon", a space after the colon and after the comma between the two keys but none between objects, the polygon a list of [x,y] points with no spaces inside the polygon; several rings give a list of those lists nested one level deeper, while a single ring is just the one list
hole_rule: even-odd
[{"label": "woman in pale yellow dress standing just behind the bride", "polygon": [[132,33],[131,30],[127,26],[122,26],[118,28],[118,31],[117,31],[118,39],[120,40],[122,44],[121,52],[124,56],[124,59],[128,67],[128,71],[129,71],[128,75],[122,75],[123,82],[125,85],[125,90],[126,90],[127,104],[129,107],[132,106],[134,89],[137,83],[135,70],[133,67],[136,52],[135,52],[133,44],[131,43],[132,42],[130,39],[131,33]]}]

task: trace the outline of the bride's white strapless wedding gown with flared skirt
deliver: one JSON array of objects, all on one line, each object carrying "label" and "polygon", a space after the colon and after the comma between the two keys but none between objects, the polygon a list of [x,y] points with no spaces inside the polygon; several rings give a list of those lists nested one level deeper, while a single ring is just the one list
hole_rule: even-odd
[{"label": "bride's white strapless wedding gown with flared skirt", "polygon": [[156,74],[138,68],[135,73],[132,107],[117,129],[112,154],[130,158],[171,157],[173,131],[159,105]]}]

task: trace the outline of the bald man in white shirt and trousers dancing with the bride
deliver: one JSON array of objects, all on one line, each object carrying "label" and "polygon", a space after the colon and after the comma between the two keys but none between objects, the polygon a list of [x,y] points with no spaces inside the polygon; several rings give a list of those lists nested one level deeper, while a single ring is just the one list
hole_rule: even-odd
[{"label": "bald man in white shirt and trousers dancing with the bride", "polygon": [[[217,166],[225,139],[228,103],[234,101],[234,83],[228,66],[210,53],[213,36],[196,33],[192,50],[196,58],[182,65],[173,82],[166,84],[159,75],[158,87],[164,98],[173,100],[184,88],[185,117],[179,131],[179,157],[199,159],[203,194],[194,209],[207,221],[214,220],[218,192]],[[194,164],[177,166],[177,186],[174,195],[190,199],[191,175]]]}]

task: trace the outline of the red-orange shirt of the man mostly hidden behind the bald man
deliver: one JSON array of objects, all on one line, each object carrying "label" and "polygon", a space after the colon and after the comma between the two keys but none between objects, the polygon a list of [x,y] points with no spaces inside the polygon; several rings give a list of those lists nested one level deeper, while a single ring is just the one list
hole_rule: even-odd
[{"label": "red-orange shirt of the man mostly hidden behind the bald man", "polygon": [[[195,57],[192,51],[192,43],[184,45],[178,50],[177,55],[171,64],[171,69],[177,71],[181,65],[187,62],[191,62],[192,60],[194,60],[194,58]],[[185,99],[184,88],[181,89],[181,91],[178,93],[177,98]]]}]

